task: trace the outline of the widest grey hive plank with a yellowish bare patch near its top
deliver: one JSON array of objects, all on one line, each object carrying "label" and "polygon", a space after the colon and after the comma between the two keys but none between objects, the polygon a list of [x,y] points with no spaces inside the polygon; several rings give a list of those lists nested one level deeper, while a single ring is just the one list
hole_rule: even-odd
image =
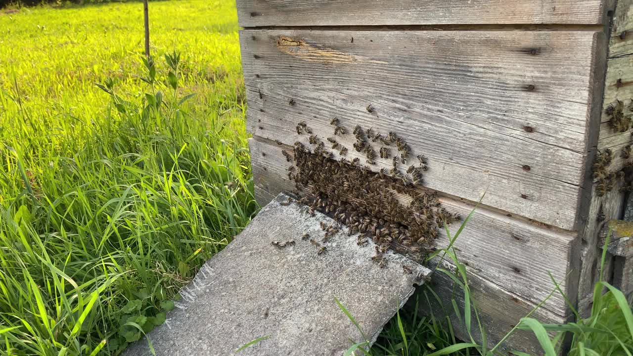
[{"label": "widest grey hive plank with a yellowish bare patch near its top", "polygon": [[[394,131],[425,185],[575,229],[597,32],[242,30],[248,129],[286,144],[305,120]],[[595,100],[601,102],[601,97]],[[373,112],[368,112],[372,105]],[[597,121],[596,121],[597,122]],[[594,124],[597,125],[597,124]],[[372,169],[387,167],[377,160]]]}]

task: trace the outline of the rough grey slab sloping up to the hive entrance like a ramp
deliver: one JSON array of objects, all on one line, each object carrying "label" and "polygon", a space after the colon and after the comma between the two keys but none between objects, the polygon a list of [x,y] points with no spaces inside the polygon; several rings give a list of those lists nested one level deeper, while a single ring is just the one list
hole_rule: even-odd
[{"label": "rough grey slab sloping up to the hive entrance like a ramp", "polygon": [[[352,341],[364,340],[335,298],[373,343],[413,284],[429,276],[430,270],[391,251],[380,268],[371,260],[373,244],[358,246],[346,228],[318,255],[301,237],[308,232],[321,241],[320,222],[334,220],[318,212],[311,217],[307,207],[287,200],[277,196],[182,289],[167,321],[149,333],[156,355],[342,355]],[[289,240],[296,245],[272,245]],[[151,355],[147,340],[123,355]]]}]

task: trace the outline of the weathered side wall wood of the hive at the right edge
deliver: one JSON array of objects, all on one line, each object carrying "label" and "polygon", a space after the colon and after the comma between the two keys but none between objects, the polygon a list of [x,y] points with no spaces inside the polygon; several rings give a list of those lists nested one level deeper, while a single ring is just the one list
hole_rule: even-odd
[{"label": "weathered side wall wood of the hive at the right edge", "polygon": [[[633,27],[631,20],[633,14],[632,0],[618,0],[613,14],[613,27],[611,30],[610,44],[608,48],[608,60],[606,61],[606,79],[604,86],[603,110],[601,113],[601,124],[598,130],[598,149],[609,148],[613,151],[613,162],[610,170],[616,171],[622,168],[624,160],[620,156],[620,150],[631,144],[631,134],[627,132],[613,132],[606,115],[606,108],[617,103],[618,100],[624,101],[627,105],[630,98],[633,98],[633,51],[631,50],[633,37],[625,35],[624,39],[620,38],[623,32]],[[598,87],[596,91],[598,92]],[[591,166],[589,166],[591,167]],[[591,313],[594,284],[599,279],[599,267],[601,257],[601,245],[599,243],[599,232],[605,221],[610,219],[620,219],[622,208],[624,206],[624,194],[618,191],[616,186],[613,191],[598,196],[591,186],[589,195],[589,209],[586,216],[580,216],[582,222],[579,236],[582,239],[582,254],[580,278],[578,282],[578,310],[580,315],[586,317]],[[580,212],[584,215],[585,212]],[[599,219],[600,217],[600,219]],[[610,281],[613,268],[613,260],[608,259],[605,265],[605,274],[603,280]]]}]

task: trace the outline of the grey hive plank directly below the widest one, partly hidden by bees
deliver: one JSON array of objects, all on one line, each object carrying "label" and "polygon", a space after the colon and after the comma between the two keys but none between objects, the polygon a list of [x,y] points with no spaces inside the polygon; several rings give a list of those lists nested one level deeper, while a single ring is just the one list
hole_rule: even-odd
[{"label": "grey hive plank directly below the widest one, partly hidden by bees", "polygon": [[[294,182],[287,177],[287,167],[291,163],[282,155],[282,149],[290,155],[292,149],[271,142],[259,137],[249,140],[256,196],[260,203],[294,189]],[[398,198],[408,203],[407,198]],[[473,209],[468,202],[444,197],[441,203],[462,216]],[[478,276],[494,281],[499,288],[532,303],[541,302],[551,292],[553,284],[548,271],[563,284],[568,295],[576,295],[575,286],[567,282],[568,279],[577,280],[578,261],[571,258],[579,249],[575,235],[508,215],[481,207],[474,213],[454,245],[463,262]],[[454,224],[450,230],[454,233],[456,229],[458,226]],[[441,234],[437,243],[447,246],[449,241],[445,234]],[[565,315],[565,301],[561,295],[552,296],[544,307]]]}]

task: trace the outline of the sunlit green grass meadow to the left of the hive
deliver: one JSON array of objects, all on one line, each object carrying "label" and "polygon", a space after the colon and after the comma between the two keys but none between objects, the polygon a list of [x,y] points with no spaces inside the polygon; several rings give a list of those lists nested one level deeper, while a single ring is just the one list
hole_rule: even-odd
[{"label": "sunlit green grass meadow to the left of the hive", "polygon": [[152,71],[141,3],[0,16],[2,355],[120,352],[256,211],[233,2],[151,19]]}]

